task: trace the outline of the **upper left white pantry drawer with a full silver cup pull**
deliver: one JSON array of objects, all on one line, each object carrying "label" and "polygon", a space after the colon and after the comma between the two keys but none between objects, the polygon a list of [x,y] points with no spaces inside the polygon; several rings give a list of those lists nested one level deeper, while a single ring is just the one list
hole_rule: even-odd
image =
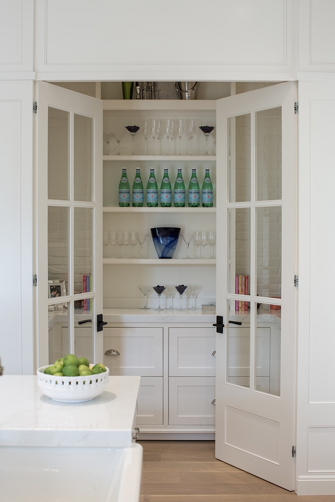
[{"label": "upper left white pantry drawer with a full silver cup pull", "polygon": [[104,355],[111,375],[163,375],[162,328],[104,328],[104,354],[115,349],[120,355]]}]

